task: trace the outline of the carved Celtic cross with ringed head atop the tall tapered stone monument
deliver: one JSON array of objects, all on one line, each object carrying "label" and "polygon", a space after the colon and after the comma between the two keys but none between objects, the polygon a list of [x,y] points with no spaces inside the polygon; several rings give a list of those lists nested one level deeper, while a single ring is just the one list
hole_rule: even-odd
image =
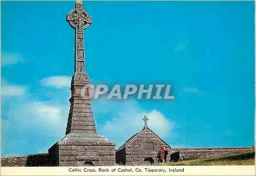
[{"label": "carved Celtic cross with ringed head atop the tall tapered stone monument", "polygon": [[85,73],[83,30],[92,24],[92,17],[83,10],[81,1],[67,15],[67,21],[75,29],[75,73]]}]

